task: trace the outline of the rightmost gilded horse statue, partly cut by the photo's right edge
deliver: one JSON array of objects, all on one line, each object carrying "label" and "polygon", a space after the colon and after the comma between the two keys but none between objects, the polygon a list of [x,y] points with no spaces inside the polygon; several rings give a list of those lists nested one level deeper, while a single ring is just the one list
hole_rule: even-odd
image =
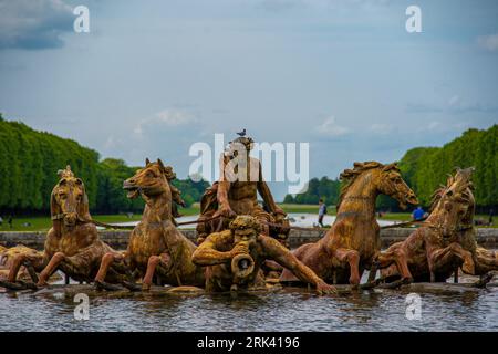
[{"label": "rightmost gilded horse statue, partly cut by the photo's right edge", "polygon": [[[402,241],[392,244],[385,254],[401,251],[415,282],[445,282],[458,269],[467,274],[485,275],[498,270],[494,251],[477,246],[474,228],[475,199],[470,180],[473,168],[457,168],[446,186],[433,195],[429,217],[423,226]],[[394,267],[381,270],[381,281],[397,280]]]}]

